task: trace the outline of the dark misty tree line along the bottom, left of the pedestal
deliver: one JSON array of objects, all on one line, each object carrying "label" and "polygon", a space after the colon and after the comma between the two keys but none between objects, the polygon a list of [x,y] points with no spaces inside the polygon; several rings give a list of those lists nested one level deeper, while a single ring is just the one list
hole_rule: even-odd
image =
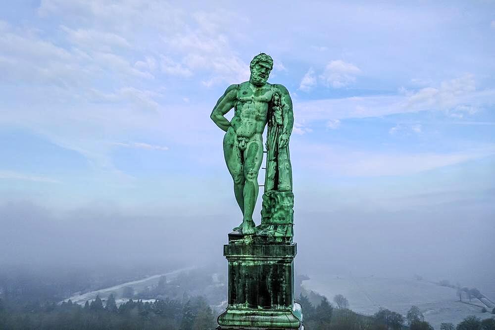
[{"label": "dark misty tree line along the bottom, left of the pedestal", "polygon": [[96,297],[84,306],[72,303],[9,305],[0,300],[0,330],[211,330],[214,313],[203,297],[185,297],[153,302],[129,299],[117,306],[110,295],[106,301]]}]

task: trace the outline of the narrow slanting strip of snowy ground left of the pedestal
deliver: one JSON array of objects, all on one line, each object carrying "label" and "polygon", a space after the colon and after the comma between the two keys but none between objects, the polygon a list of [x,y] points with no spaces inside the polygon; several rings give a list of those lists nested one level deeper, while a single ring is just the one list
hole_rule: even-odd
[{"label": "narrow slanting strip of snowy ground left of the pedestal", "polygon": [[[124,287],[126,287],[126,286],[131,286],[135,291],[141,291],[147,286],[158,284],[160,277],[163,275],[165,275],[167,277],[167,282],[168,282],[168,281],[172,280],[173,278],[175,278],[177,275],[179,275],[181,272],[188,271],[191,269],[193,269],[193,268],[192,267],[182,268],[182,269],[178,269],[178,270],[175,270],[175,271],[172,271],[169,273],[165,273],[165,274],[153,275],[153,276],[147,277],[147,278],[142,279],[142,280],[122,283],[119,285],[107,287],[107,288],[100,289],[97,291],[91,291],[91,292],[86,292],[84,294],[75,295],[75,296],[72,296],[72,297],[65,299],[64,301],[68,301],[70,299],[70,300],[72,300],[73,303],[83,305],[87,300],[91,301],[91,300],[95,299],[97,295],[99,295],[99,297],[101,299],[106,299],[111,293],[113,293],[113,295],[115,297],[121,297],[122,291],[123,291]],[[123,302],[124,300],[125,299],[119,299],[119,302]],[[117,305],[118,305],[118,303],[117,303]]]}]

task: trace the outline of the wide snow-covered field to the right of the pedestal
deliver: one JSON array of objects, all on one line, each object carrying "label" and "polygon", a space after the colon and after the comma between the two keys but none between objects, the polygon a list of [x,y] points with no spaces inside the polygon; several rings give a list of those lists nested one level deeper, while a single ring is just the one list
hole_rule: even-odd
[{"label": "wide snow-covered field to the right of the pedestal", "polygon": [[[426,281],[315,276],[304,281],[303,285],[329,300],[336,294],[343,294],[349,301],[349,308],[362,314],[374,314],[382,307],[405,316],[409,308],[416,305],[423,312],[425,321],[435,329],[440,329],[442,322],[457,324],[468,315],[481,319],[494,317],[490,313],[482,313],[481,307],[459,302],[456,289]],[[481,305],[476,299],[472,303]]]}]

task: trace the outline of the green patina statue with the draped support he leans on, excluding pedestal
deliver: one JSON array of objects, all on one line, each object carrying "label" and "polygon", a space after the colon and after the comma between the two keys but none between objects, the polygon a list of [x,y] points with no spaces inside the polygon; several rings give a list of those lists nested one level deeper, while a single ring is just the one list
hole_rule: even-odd
[{"label": "green patina statue with the draped support he leans on, excluding pedestal", "polygon": [[[291,96],[279,84],[267,83],[273,68],[272,58],[260,53],[250,63],[249,81],[231,85],[211,112],[211,119],[227,132],[223,139],[225,161],[232,179],[237,203],[243,213],[241,225],[234,228],[243,236],[272,237],[292,241],[293,206],[292,167],[289,139],[294,125]],[[234,118],[224,115],[232,108]],[[263,138],[266,141],[266,176],[261,224],[252,220],[258,196],[258,173],[263,161]]]}]

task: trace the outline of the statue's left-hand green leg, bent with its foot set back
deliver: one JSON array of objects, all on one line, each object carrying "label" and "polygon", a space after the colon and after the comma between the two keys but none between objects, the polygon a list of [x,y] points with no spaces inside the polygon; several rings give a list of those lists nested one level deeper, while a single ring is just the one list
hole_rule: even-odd
[{"label": "statue's left-hand green leg, bent with its foot set back", "polygon": [[[242,163],[241,150],[239,149],[236,134],[233,130],[230,130],[225,134],[223,139],[223,154],[225,157],[225,163],[229,169],[230,175],[234,180],[234,194],[236,196],[237,203],[241,208],[241,212],[244,215],[244,184],[246,179],[244,177],[244,166]],[[234,230],[240,229],[241,226],[234,228]]]}]

